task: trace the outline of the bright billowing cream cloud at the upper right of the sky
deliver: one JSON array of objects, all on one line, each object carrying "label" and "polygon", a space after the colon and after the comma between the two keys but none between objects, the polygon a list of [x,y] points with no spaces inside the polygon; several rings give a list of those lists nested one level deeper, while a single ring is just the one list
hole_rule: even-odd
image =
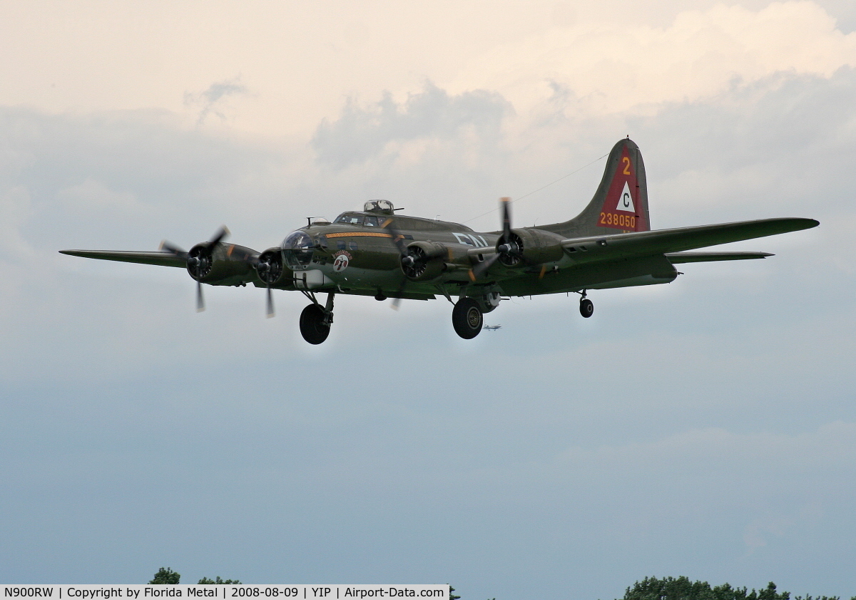
[{"label": "bright billowing cream cloud at the upper right of the sky", "polygon": [[847,65],[856,65],[856,33],[836,29],[816,3],[717,4],[678,13],[663,28],[609,21],[553,27],[469,62],[449,89],[500,91],[528,113],[560,85],[569,111],[603,114],[713,97],[781,71],[828,77]]}]

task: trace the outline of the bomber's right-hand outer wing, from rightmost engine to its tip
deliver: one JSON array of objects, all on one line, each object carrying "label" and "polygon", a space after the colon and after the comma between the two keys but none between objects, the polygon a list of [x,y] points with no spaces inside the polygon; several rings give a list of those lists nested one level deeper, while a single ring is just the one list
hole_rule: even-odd
[{"label": "bomber's right-hand outer wing, from rightmost engine to its tip", "polygon": [[[562,240],[562,248],[578,262],[609,261],[633,256],[651,256],[695,250],[718,244],[764,238],[778,233],[796,232],[820,225],[814,219],[760,219],[718,225],[657,229],[648,232]],[[720,253],[722,254],[722,253]]]}]

